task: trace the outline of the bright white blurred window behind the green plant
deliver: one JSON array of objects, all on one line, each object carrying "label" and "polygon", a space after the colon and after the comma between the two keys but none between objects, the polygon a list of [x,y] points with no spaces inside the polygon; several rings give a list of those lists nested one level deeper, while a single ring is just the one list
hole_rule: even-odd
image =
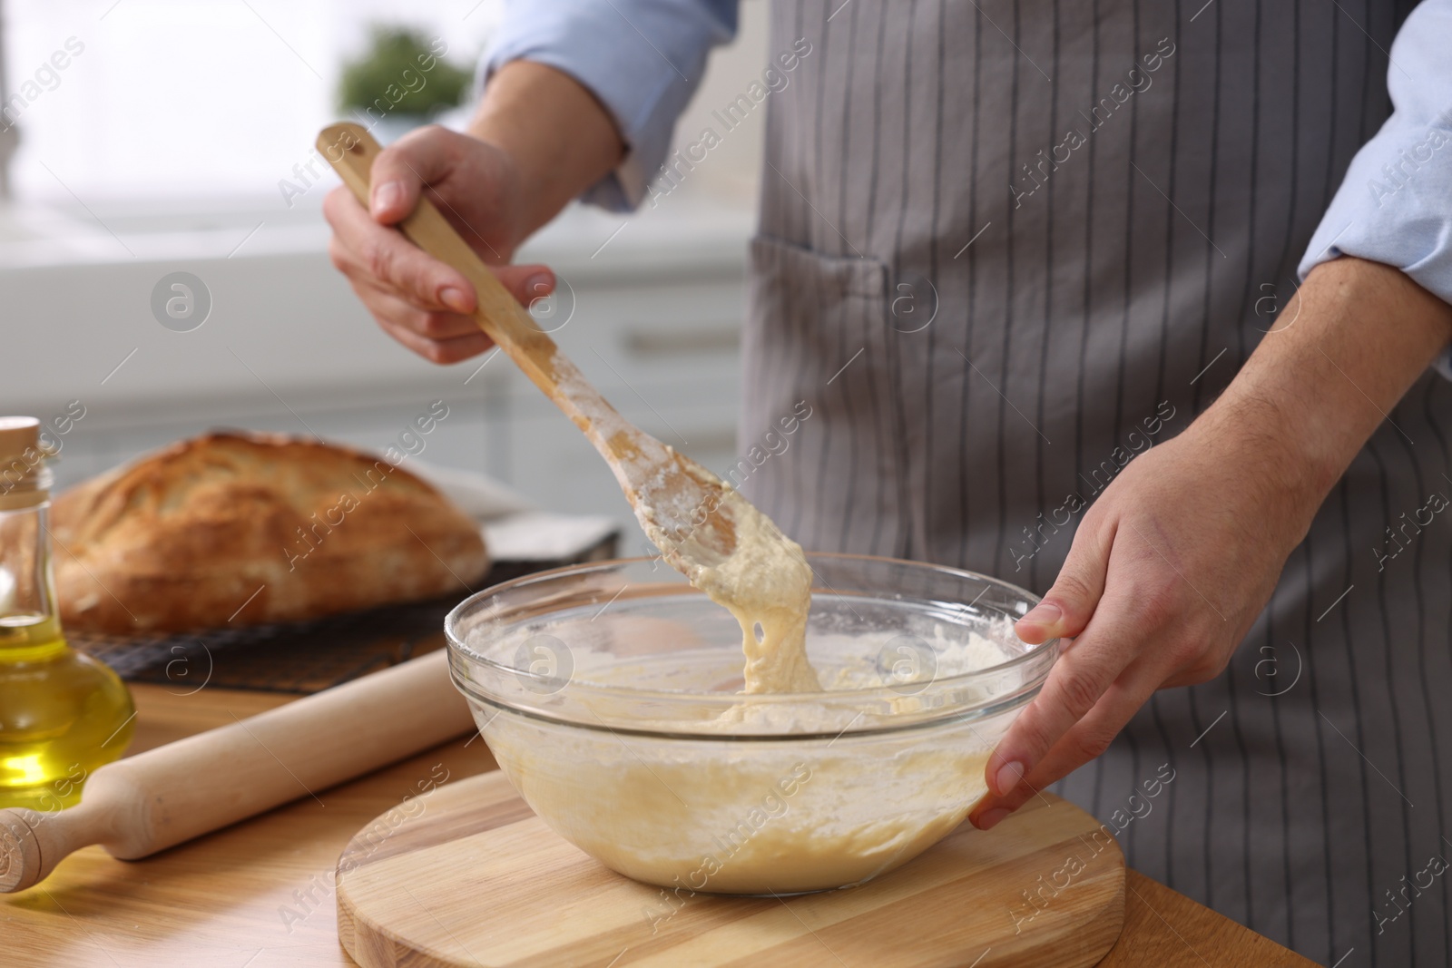
[{"label": "bright white blurred window behind the green plant", "polygon": [[[128,228],[197,209],[287,210],[343,64],[375,23],[472,67],[499,0],[0,0],[12,197]],[[4,136],[0,135],[0,139]],[[4,142],[0,141],[0,145]],[[3,151],[3,147],[0,147]],[[295,203],[317,206],[321,192]],[[125,237],[125,232],[121,231]]]}]

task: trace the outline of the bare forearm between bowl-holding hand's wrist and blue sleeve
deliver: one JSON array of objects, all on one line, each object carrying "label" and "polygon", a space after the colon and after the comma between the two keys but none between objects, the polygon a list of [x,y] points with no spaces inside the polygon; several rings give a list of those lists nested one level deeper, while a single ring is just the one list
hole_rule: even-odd
[{"label": "bare forearm between bowl-holding hand's wrist and blue sleeve", "polygon": [[1257,447],[1268,486],[1316,508],[1413,382],[1452,340],[1452,306],[1401,271],[1359,258],[1318,266],[1205,428]]}]

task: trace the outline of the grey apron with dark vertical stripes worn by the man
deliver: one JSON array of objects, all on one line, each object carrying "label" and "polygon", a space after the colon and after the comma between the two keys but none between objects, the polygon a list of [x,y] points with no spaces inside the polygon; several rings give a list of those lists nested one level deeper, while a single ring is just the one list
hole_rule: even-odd
[{"label": "grey apron with dark vertical stripes worn by the man", "polygon": [[[746,493],[809,549],[1045,591],[1070,498],[1275,325],[1410,6],[778,0],[771,51],[812,51],[770,99],[743,450],[813,409]],[[1452,514],[1406,528],[1452,495],[1452,389],[1392,421],[1230,669],[1060,784],[1135,868],[1345,967],[1452,964]]]}]

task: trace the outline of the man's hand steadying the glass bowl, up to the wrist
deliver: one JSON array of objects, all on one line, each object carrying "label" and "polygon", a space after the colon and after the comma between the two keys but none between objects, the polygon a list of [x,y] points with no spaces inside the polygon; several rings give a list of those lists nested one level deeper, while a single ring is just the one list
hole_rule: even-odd
[{"label": "man's hand steadying the glass bowl, up to the wrist", "polygon": [[1320,504],[1275,479],[1266,444],[1196,421],[1085,512],[1054,586],[1016,625],[1028,643],[1072,641],[989,760],[977,826],[1105,752],[1156,689],[1225,668]]}]

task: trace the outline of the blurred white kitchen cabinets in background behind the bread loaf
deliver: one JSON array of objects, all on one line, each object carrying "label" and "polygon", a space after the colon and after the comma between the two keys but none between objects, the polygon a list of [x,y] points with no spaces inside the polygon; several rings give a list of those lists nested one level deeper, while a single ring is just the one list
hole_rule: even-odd
[{"label": "blurred white kitchen cabinets in background behind the bread loaf", "polygon": [[[571,293],[568,322],[556,312],[544,328],[627,418],[726,467],[751,219],[662,206],[621,223],[571,209],[520,254],[553,266]],[[437,367],[393,344],[328,264],[321,223],[258,232],[251,254],[228,258],[247,231],[234,228],[128,235],[138,258],[125,261],[61,232],[0,266],[6,357],[20,361],[0,383],[0,411],[87,408],[62,438],[62,486],[211,427],[383,448],[443,399],[450,412],[424,460],[491,473],[549,509],[629,517],[605,464],[507,358]],[[151,315],[155,280],[176,270],[212,293],[211,318],[192,332]]]}]

